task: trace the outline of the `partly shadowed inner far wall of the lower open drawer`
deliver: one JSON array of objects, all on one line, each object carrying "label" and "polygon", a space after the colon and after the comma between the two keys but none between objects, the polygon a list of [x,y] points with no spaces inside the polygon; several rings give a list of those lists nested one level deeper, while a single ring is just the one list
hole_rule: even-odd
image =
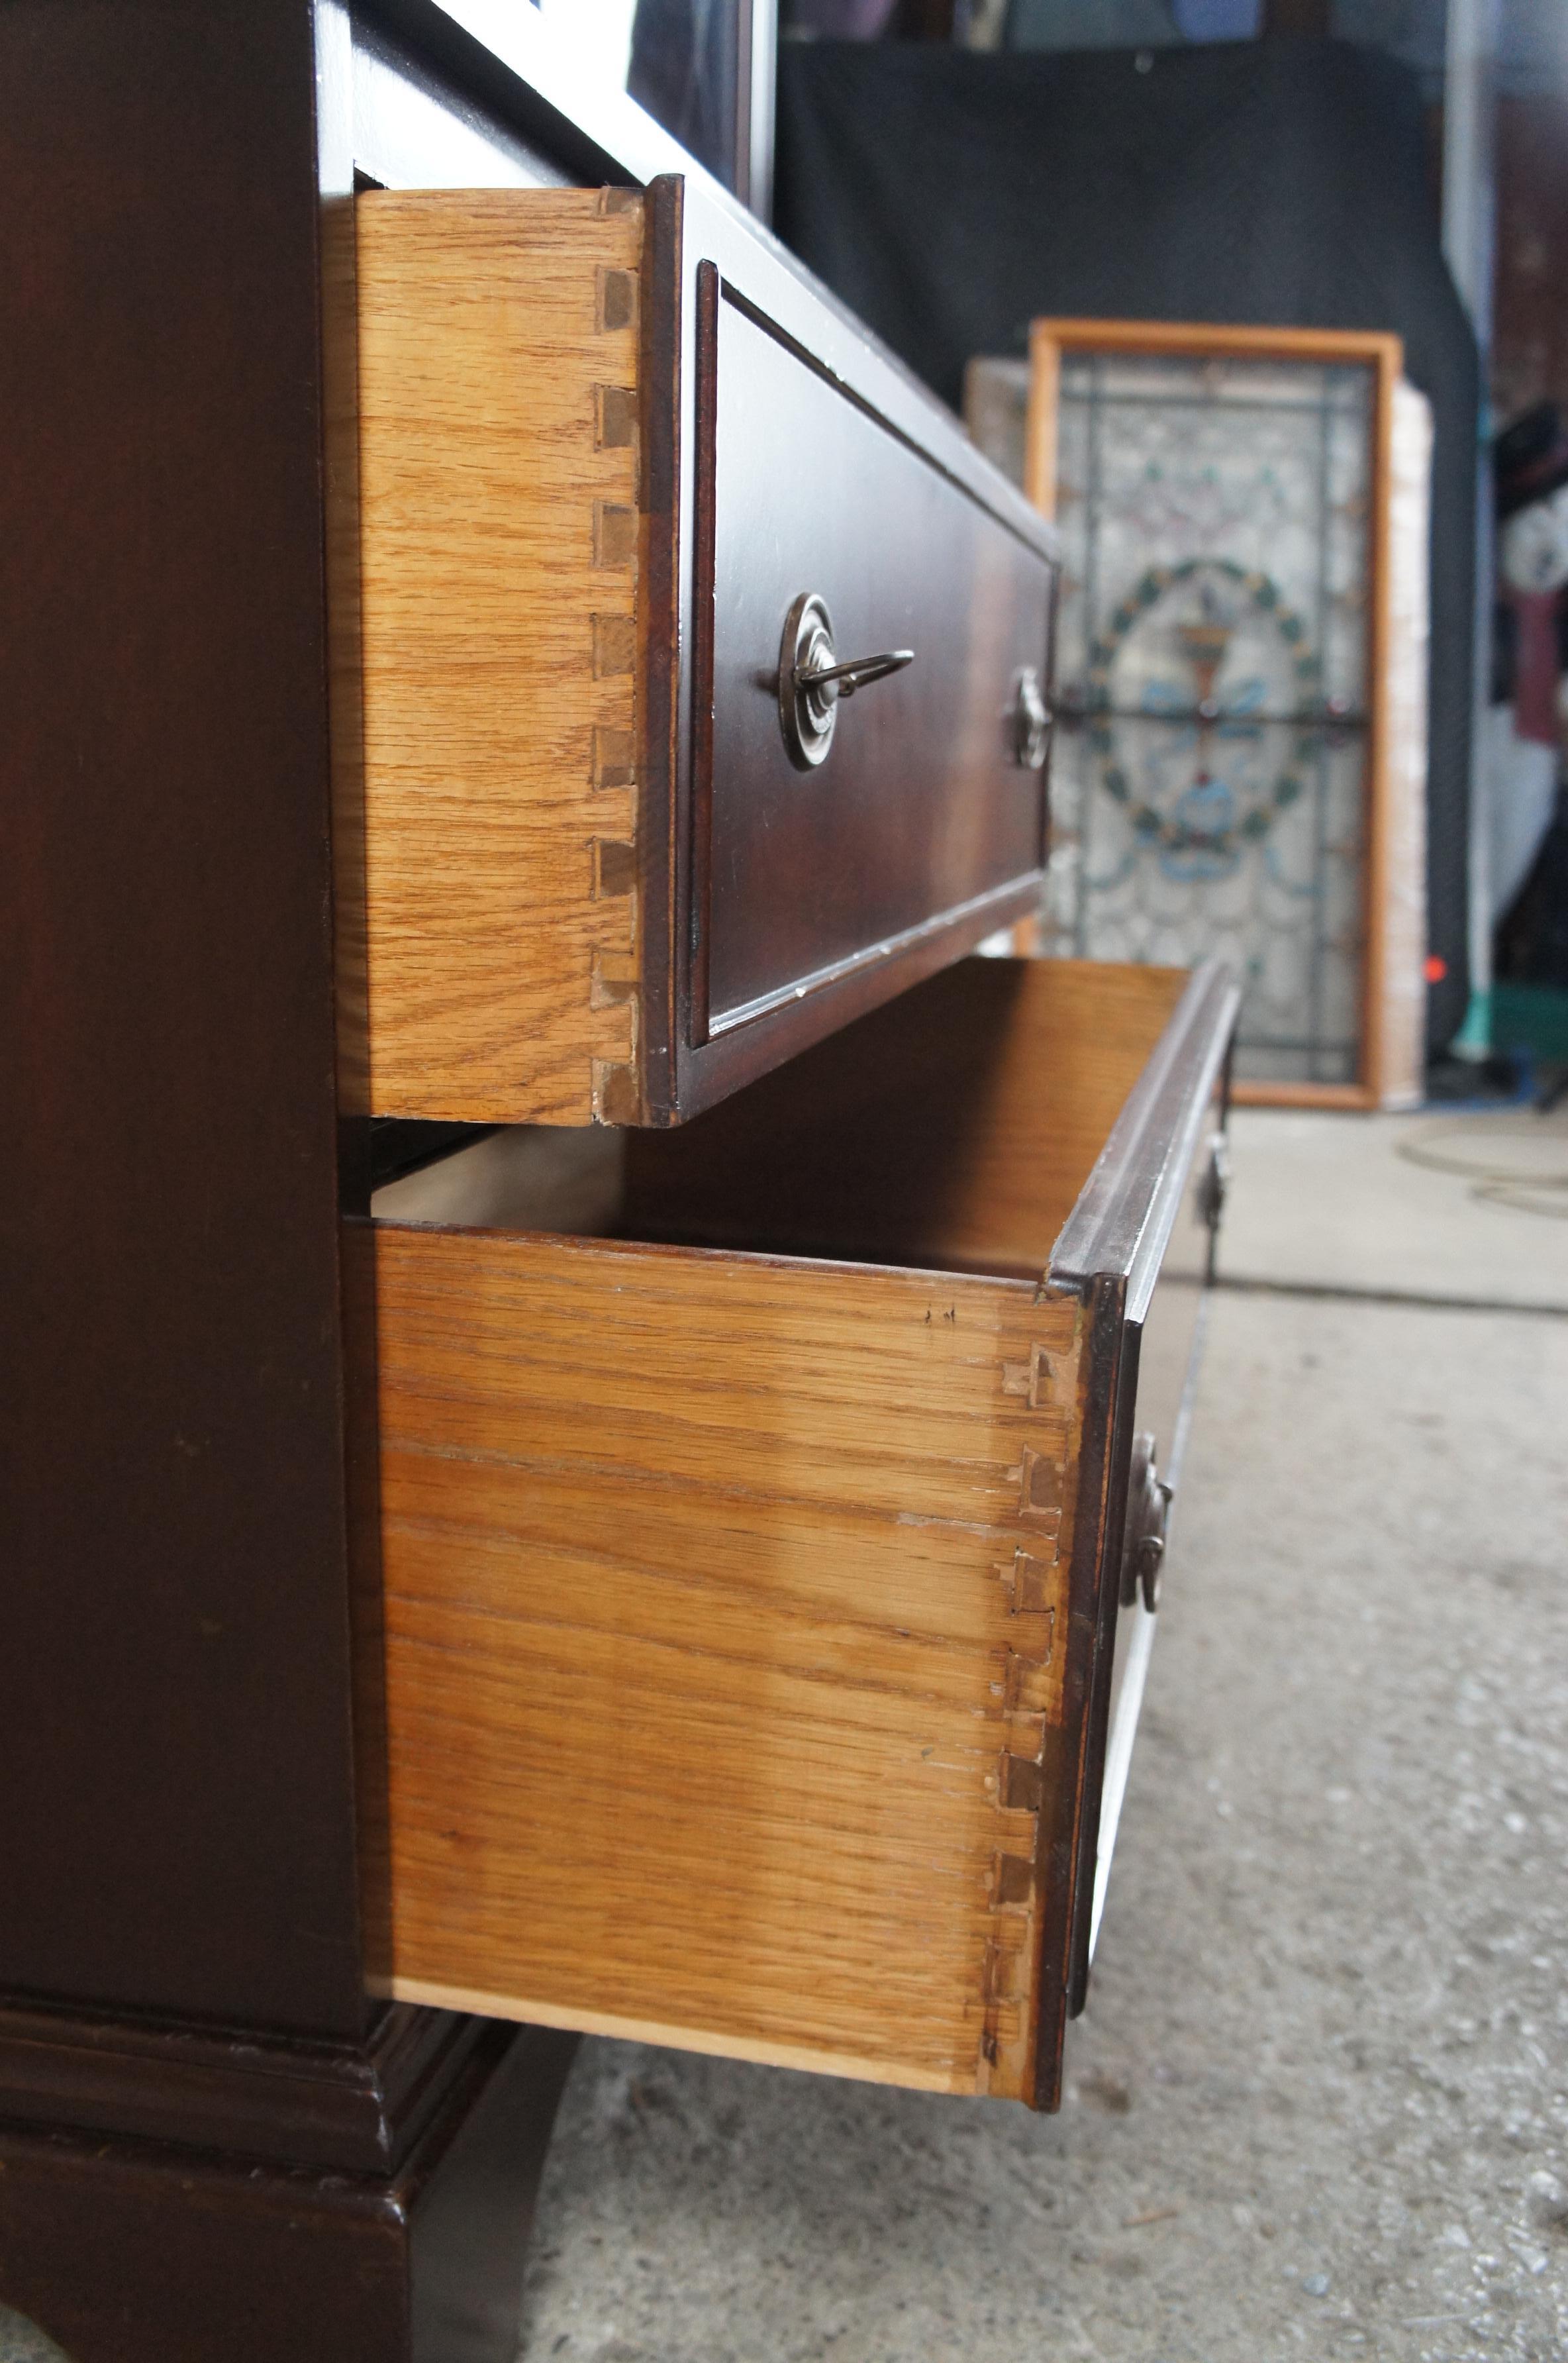
[{"label": "partly shadowed inner far wall of the lower open drawer", "polygon": [[623,1226],[1037,1276],[1185,983],[963,959],[680,1132],[633,1134]]}]

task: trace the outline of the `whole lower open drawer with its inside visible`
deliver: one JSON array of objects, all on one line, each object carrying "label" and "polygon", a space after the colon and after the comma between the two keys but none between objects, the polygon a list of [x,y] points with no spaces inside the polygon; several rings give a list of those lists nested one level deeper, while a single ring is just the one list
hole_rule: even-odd
[{"label": "whole lower open drawer with its inside visible", "polygon": [[380,1193],[390,1992],[1056,2103],[1233,1018],[968,959]]}]

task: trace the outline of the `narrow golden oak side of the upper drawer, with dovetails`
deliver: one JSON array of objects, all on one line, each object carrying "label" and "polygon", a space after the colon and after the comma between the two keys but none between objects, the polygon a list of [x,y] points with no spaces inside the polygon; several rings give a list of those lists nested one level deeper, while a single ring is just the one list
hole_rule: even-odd
[{"label": "narrow golden oak side of the upper drawer, with dovetails", "polygon": [[371,1106],[633,1120],[642,201],[357,210]]}]

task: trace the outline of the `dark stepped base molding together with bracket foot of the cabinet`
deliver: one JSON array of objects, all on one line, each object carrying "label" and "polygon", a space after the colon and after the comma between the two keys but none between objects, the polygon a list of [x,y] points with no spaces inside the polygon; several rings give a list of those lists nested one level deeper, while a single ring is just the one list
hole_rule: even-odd
[{"label": "dark stepped base molding together with bracket foot of the cabinet", "polygon": [[404,2004],[361,2051],[0,2009],[0,2309],[68,2363],[512,2363],[574,2049]]}]

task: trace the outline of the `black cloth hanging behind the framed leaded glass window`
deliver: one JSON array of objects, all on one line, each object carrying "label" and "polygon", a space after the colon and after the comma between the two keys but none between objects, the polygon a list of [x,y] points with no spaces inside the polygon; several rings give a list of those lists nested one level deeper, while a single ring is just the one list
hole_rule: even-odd
[{"label": "black cloth hanging behind the framed leaded glass window", "polygon": [[1346,43],[1020,54],[786,43],[775,224],[945,402],[1037,314],[1389,328],[1436,418],[1431,1042],[1466,978],[1476,340],[1415,73]]}]

